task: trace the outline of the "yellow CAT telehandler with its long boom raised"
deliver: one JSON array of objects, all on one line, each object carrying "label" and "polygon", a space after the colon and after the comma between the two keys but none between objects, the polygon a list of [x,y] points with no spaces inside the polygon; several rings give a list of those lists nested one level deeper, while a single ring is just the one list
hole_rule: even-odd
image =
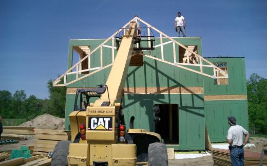
[{"label": "yellow CAT telehandler with its long boom raised", "polygon": [[[155,41],[154,36],[140,36],[137,29],[137,22],[131,22],[125,34],[116,37],[118,53],[106,84],[77,90],[69,115],[72,142],[56,144],[51,165],[168,165],[159,134],[133,129],[134,118],[127,131],[125,127],[122,98],[131,56],[153,50]],[[144,48],[143,41],[149,47]],[[91,98],[97,100],[90,103]]]}]

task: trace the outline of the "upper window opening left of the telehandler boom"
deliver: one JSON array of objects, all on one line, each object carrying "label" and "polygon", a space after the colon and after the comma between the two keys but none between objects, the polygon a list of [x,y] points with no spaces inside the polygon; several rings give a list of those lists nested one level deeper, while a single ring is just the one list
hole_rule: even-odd
[{"label": "upper window opening left of the telehandler boom", "polygon": [[[90,54],[90,52],[91,52],[89,45],[73,46],[73,50],[76,53],[78,53],[78,55],[79,55],[79,60],[78,61],[83,59],[87,54]],[[75,55],[73,54],[73,56],[75,56]],[[72,56],[72,59],[73,59],[73,56]],[[75,63],[77,63],[77,62],[75,62]],[[72,64],[75,64],[75,63],[72,63]],[[80,72],[79,74],[88,74],[89,73],[88,58],[86,58],[85,60],[83,60],[79,64],[79,71],[81,71],[81,70],[85,70],[85,71]]]}]

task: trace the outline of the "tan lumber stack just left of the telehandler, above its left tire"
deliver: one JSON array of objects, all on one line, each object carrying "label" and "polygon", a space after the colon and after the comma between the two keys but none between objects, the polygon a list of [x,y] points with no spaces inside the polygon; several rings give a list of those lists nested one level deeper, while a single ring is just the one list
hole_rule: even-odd
[{"label": "tan lumber stack just left of the telehandler, above its left tire", "polygon": [[68,134],[65,131],[35,129],[33,154],[53,152],[55,145],[60,140],[68,140]]}]

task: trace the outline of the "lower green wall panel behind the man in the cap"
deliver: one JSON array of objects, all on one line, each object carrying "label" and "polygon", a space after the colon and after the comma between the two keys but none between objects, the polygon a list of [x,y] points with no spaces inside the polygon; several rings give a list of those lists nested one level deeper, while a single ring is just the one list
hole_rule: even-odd
[{"label": "lower green wall panel behind the man in the cap", "polygon": [[227,116],[235,116],[237,124],[249,131],[246,100],[205,101],[205,124],[212,142],[224,142],[228,125]]}]

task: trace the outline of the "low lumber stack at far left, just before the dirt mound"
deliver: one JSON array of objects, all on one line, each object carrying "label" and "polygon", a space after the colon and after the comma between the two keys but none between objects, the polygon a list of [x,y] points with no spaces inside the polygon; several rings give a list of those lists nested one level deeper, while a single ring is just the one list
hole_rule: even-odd
[{"label": "low lumber stack at far left, just before the dirt mound", "polygon": [[20,134],[20,135],[34,135],[34,127],[3,126],[3,133]]}]

